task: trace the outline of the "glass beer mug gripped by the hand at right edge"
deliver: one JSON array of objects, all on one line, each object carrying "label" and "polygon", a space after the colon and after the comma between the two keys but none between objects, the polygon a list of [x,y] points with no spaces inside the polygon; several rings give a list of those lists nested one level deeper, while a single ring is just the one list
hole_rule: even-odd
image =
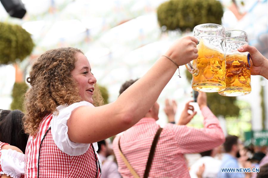
[{"label": "glass beer mug gripped by the hand at right edge", "polygon": [[249,53],[237,51],[244,44],[248,44],[246,32],[226,31],[226,89],[220,95],[235,97],[251,92]]}]

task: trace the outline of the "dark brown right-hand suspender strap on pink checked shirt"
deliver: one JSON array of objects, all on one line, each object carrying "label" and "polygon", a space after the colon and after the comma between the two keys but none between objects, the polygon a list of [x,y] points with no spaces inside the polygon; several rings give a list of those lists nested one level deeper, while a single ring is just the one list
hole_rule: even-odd
[{"label": "dark brown right-hand suspender strap on pink checked shirt", "polygon": [[159,136],[162,132],[162,129],[161,127],[159,127],[159,129],[157,130],[156,134],[155,134],[155,138],[152,142],[152,146],[151,146],[151,150],[150,150],[150,153],[149,153],[149,156],[148,156],[148,161],[147,161],[147,164],[146,164],[146,169],[144,171],[144,175],[143,177],[144,178],[147,178],[149,176],[149,172],[150,172],[150,169],[151,169],[151,165],[152,165],[152,159],[154,158],[154,155],[155,155],[155,147],[157,145],[157,142],[158,142],[158,139],[159,139]]}]

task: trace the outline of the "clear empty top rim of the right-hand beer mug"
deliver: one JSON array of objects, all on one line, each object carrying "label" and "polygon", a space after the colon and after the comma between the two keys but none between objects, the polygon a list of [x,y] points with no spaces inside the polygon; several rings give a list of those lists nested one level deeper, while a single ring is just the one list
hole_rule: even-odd
[{"label": "clear empty top rim of the right-hand beer mug", "polygon": [[242,41],[248,43],[247,32],[242,30],[228,30],[225,32],[226,41]]}]

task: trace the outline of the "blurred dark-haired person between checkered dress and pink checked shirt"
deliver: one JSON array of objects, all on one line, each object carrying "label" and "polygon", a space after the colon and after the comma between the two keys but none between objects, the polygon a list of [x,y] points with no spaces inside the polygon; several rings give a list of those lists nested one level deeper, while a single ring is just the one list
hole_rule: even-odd
[{"label": "blurred dark-haired person between checkered dress and pink checked shirt", "polygon": [[108,159],[107,157],[111,155],[111,150],[108,146],[108,143],[106,140],[101,140],[98,142],[98,151],[99,157],[102,161],[102,177],[105,178],[120,178],[121,175],[118,172],[118,166],[117,164]]}]

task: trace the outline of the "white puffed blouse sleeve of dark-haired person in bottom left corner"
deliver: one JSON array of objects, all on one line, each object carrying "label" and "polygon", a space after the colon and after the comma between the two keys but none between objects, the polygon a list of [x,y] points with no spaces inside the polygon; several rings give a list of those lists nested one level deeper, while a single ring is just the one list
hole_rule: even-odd
[{"label": "white puffed blouse sleeve of dark-haired person in bottom left corner", "polygon": [[0,164],[2,171],[0,175],[7,174],[10,177],[20,178],[24,175],[24,158],[25,155],[16,150],[1,150]]}]

